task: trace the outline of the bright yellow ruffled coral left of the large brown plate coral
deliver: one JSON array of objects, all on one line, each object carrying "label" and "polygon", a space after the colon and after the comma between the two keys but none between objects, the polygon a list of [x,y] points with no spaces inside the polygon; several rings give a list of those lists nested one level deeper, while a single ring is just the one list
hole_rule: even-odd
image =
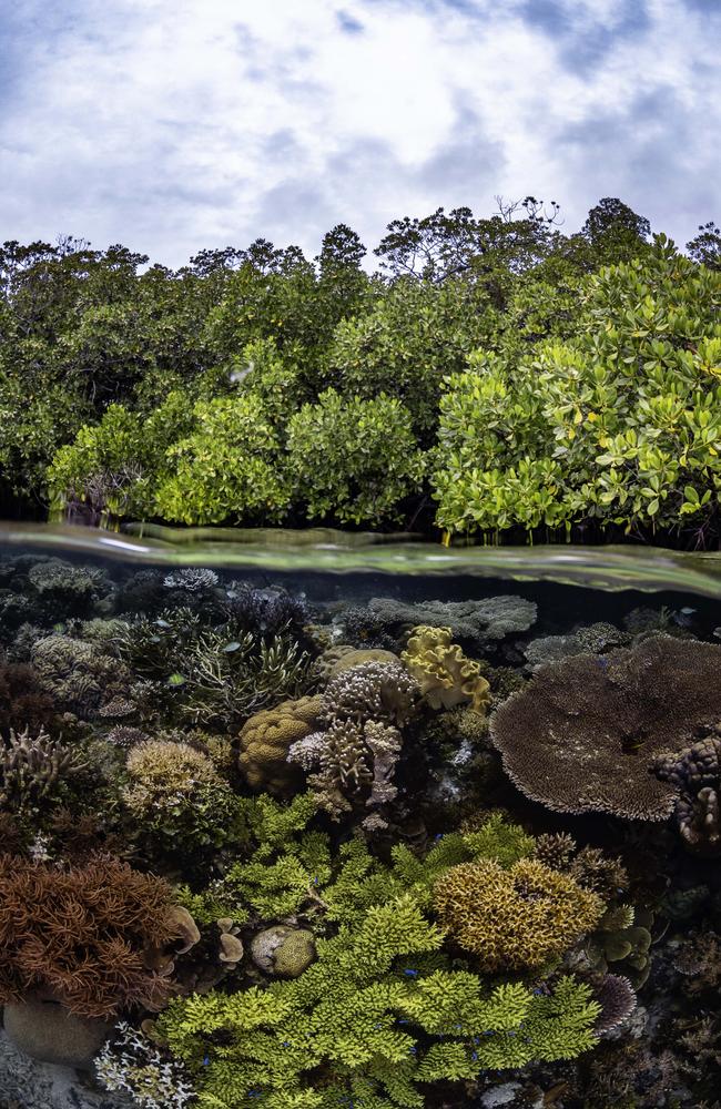
[{"label": "bright yellow ruffled coral left of the large brown plate coral", "polygon": [[490,703],[490,686],[477,662],[451,643],[450,628],[414,628],[400,658],[431,709],[454,709],[470,702],[483,714]]}]

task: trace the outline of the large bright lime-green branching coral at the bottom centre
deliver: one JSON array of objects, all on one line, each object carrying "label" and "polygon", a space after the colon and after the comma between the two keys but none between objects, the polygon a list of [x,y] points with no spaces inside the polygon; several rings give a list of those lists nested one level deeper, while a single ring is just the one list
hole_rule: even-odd
[{"label": "large bright lime-green branching coral at the bottom centre", "polygon": [[[468,971],[429,966],[443,934],[406,895],[318,942],[299,978],[231,996],[176,999],[158,1032],[195,1074],[199,1105],[337,1107],[360,1098],[423,1109],[417,1082],[487,1068],[570,1059],[592,1047],[590,987],[562,978],[548,996],[488,989]],[[433,962],[433,960],[431,960]],[[318,1069],[325,1081],[314,1081]]]}]

